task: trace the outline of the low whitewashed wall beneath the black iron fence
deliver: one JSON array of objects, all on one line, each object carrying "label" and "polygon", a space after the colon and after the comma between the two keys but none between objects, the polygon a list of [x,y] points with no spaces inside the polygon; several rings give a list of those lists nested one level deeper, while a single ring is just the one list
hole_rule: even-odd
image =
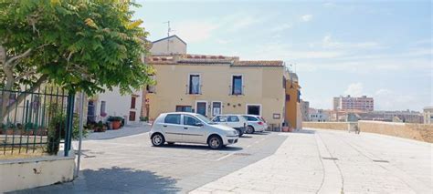
[{"label": "low whitewashed wall beneath the black iron fence", "polygon": [[0,193],[74,179],[75,156],[0,160]]}]

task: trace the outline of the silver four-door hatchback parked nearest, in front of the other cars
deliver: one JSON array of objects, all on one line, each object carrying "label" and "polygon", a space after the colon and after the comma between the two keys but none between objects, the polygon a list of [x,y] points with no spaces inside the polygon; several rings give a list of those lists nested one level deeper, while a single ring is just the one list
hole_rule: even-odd
[{"label": "silver four-door hatchback parked nearest, in front of the other cars", "polygon": [[195,113],[174,112],[158,116],[149,136],[155,147],[175,142],[207,144],[209,148],[222,148],[238,142],[238,131],[218,125]]}]

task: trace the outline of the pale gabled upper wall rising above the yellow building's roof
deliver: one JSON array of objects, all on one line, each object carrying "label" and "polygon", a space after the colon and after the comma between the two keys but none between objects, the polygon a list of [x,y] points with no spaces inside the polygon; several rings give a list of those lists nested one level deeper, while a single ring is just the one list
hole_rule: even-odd
[{"label": "pale gabled upper wall rising above the yellow building's roof", "polygon": [[177,36],[170,36],[153,42],[152,55],[186,54],[186,44]]}]

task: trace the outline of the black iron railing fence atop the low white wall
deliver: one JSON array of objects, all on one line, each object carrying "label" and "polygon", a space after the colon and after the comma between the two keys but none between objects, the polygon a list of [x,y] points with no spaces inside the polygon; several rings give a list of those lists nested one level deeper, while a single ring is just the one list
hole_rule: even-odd
[{"label": "black iron railing fence atop the low white wall", "polygon": [[69,155],[74,95],[59,87],[0,88],[0,156]]}]

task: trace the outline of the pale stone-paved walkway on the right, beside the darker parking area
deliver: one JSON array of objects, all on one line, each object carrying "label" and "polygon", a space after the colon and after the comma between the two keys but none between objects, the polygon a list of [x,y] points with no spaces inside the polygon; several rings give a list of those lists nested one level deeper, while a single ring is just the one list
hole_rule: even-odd
[{"label": "pale stone-paved walkway on the right, beside the darker parking area", "polygon": [[191,193],[432,193],[432,144],[304,129],[275,154]]}]

